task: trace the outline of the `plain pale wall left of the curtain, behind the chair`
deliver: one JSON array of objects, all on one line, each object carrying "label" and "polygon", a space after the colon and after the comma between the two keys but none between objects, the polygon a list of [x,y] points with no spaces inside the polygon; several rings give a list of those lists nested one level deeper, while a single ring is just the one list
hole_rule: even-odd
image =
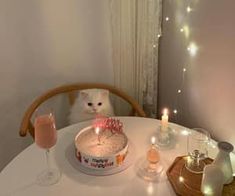
[{"label": "plain pale wall left of the curtain, behind the chair", "polygon": [[0,170],[31,139],[26,107],[70,82],[113,83],[108,0],[0,1]]}]

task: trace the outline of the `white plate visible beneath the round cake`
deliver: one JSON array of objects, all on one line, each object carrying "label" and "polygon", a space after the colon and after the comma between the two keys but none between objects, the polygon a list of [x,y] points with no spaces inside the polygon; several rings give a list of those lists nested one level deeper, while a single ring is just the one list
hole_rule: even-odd
[{"label": "white plate visible beneath the round cake", "polygon": [[78,159],[77,159],[77,163],[79,166],[78,169],[85,174],[93,175],[93,176],[108,176],[108,175],[112,175],[112,174],[116,174],[121,171],[124,171],[134,162],[134,159],[135,159],[135,147],[133,143],[129,141],[129,148],[128,148],[127,156],[124,159],[124,162],[118,167],[107,169],[107,170],[95,170],[95,169],[90,169],[90,168],[83,166],[78,161]]}]

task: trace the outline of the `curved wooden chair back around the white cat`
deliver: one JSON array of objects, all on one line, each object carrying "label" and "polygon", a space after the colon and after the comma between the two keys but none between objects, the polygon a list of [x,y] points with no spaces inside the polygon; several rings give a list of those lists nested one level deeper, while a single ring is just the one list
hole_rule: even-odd
[{"label": "curved wooden chair back around the white cat", "polygon": [[33,101],[33,103],[26,110],[23,120],[21,122],[20,131],[19,131],[20,136],[25,137],[27,133],[29,132],[31,136],[34,138],[34,126],[31,121],[31,117],[33,113],[35,112],[35,110],[49,98],[55,95],[61,94],[61,93],[67,93],[68,98],[69,98],[69,103],[70,105],[73,105],[76,99],[75,95],[77,91],[84,90],[84,89],[93,89],[93,88],[109,90],[112,94],[119,96],[120,98],[122,98],[123,100],[125,100],[131,105],[132,111],[130,115],[137,114],[140,117],[146,117],[146,114],[143,111],[143,109],[133,98],[131,98],[126,93],[124,93],[123,91],[113,86],[110,86],[107,84],[97,84],[97,83],[69,84],[69,85],[59,86],[57,88],[51,89]]}]

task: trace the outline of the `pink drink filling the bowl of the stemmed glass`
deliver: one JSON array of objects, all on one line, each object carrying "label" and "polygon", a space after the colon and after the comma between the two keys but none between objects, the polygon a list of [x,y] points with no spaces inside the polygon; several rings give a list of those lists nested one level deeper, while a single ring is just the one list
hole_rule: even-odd
[{"label": "pink drink filling the bowl of the stemmed glass", "polygon": [[35,142],[44,149],[49,149],[56,144],[57,134],[55,119],[51,114],[38,116],[35,119]]}]

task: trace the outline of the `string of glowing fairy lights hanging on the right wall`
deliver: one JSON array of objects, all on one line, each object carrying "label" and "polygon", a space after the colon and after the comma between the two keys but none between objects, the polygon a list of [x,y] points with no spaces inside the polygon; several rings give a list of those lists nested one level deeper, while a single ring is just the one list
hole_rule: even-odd
[{"label": "string of glowing fairy lights hanging on the right wall", "polygon": [[[183,2],[183,1],[181,1]],[[190,36],[190,27],[188,25],[188,21],[189,21],[189,17],[190,15],[195,11],[194,9],[194,0],[185,0],[184,1],[184,5],[183,10],[180,10],[180,20],[178,20],[178,30],[179,32],[182,34],[182,36],[184,37],[184,41],[186,43],[186,50],[185,52],[188,53],[190,58],[193,58],[194,56],[196,56],[197,52],[198,52],[198,46],[197,44],[192,41],[191,36]],[[172,20],[168,15],[166,15],[165,17],[162,18],[162,24],[163,25],[170,25],[171,22],[173,22],[174,20]],[[172,25],[172,24],[171,24]],[[161,29],[157,35],[158,38],[164,36],[161,32]],[[178,121],[178,115],[180,112],[180,108],[179,108],[179,100],[180,97],[182,95],[182,93],[184,92],[184,83],[185,83],[185,77],[186,77],[186,73],[187,73],[187,68],[189,66],[189,62],[187,62],[186,65],[181,65],[181,73],[182,73],[182,79],[180,82],[180,85],[178,86],[178,88],[175,90],[176,93],[176,99],[175,99],[175,103],[173,104],[172,108],[169,108],[169,110],[171,111],[171,113],[174,114],[174,118],[175,121]]]}]

